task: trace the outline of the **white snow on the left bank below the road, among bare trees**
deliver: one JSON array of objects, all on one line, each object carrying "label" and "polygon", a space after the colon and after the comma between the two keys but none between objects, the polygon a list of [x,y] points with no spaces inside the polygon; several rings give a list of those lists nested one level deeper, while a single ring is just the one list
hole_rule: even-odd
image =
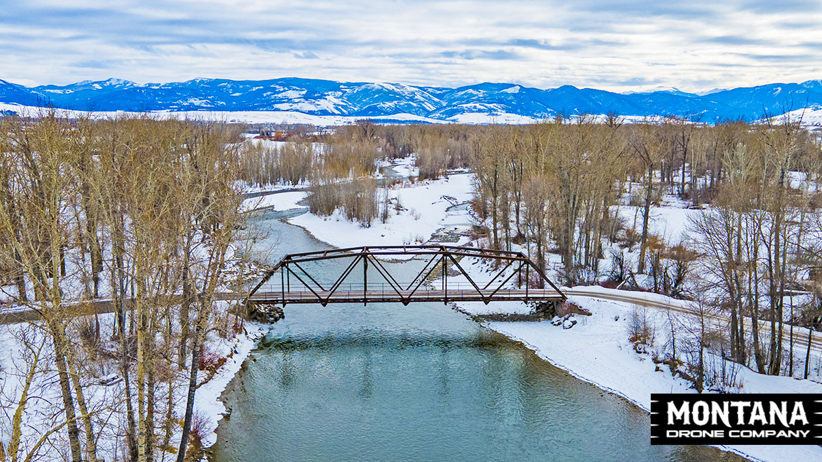
[{"label": "white snow on the left bank below the road, among bare trees", "polygon": [[[113,324],[113,314],[99,315],[101,330],[108,331]],[[205,439],[204,446],[211,446],[216,441],[215,430],[219,419],[224,416],[226,409],[219,400],[219,396],[228,386],[229,382],[237,375],[242,367],[242,363],[256,347],[257,340],[265,335],[268,326],[256,322],[245,322],[243,331],[225,339],[210,332],[206,336],[205,348],[211,352],[226,358],[225,363],[219,367],[213,376],[208,376],[206,372],[200,371],[197,375],[198,383],[201,383],[196,390],[194,411],[205,418]],[[25,335],[24,335],[25,334]],[[23,413],[23,449],[30,447],[34,441],[39,439],[39,432],[45,428],[53,427],[62,422],[63,414],[59,407],[54,407],[51,403],[60,402],[60,390],[58,382],[55,380],[52,344],[45,339],[44,330],[28,323],[0,325],[0,441],[6,444],[9,435],[8,430],[11,425],[12,409],[16,409],[16,400],[19,399],[21,387],[25,376],[26,363],[22,357],[26,349],[23,342],[36,348],[41,340],[45,341],[43,352],[41,353],[39,372],[35,376],[30,389],[30,400],[26,404]],[[106,346],[104,349],[114,348]],[[82,354],[82,349],[78,350]],[[88,368],[93,377],[84,377],[84,394],[89,409],[103,409],[105,405],[113,406],[111,410],[103,410],[98,414],[98,418],[109,421],[98,440],[98,456],[101,460],[115,460],[115,454],[122,444],[122,426],[125,422],[117,422],[118,417],[125,416],[125,409],[122,409],[123,381],[118,380],[118,367],[106,361],[97,363],[87,363],[78,358],[80,367]],[[182,418],[186,407],[186,391],[188,383],[188,372],[180,372],[175,375],[174,381],[174,414]],[[203,383],[205,382],[205,383]],[[164,387],[158,387],[157,400],[164,402]],[[34,399],[37,397],[38,399]],[[113,420],[112,420],[113,419]],[[179,427],[172,437],[172,446],[177,447],[180,437]],[[64,432],[56,433],[52,438],[58,446],[67,448],[67,441],[63,441]],[[40,454],[43,456],[39,460],[67,460],[67,455],[53,447],[43,447]]]}]

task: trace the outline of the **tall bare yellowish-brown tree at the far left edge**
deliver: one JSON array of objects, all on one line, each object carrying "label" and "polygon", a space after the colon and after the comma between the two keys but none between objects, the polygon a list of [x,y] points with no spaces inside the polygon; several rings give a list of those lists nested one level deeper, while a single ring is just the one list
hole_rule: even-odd
[{"label": "tall bare yellowish-brown tree at the far left edge", "polygon": [[[54,111],[38,115],[0,127],[9,134],[0,159],[2,184],[8,187],[0,204],[0,233],[19,256],[19,269],[30,278],[33,300],[17,301],[39,313],[52,339],[72,460],[79,462],[83,453],[86,460],[96,460],[95,430],[66,331],[73,307],[65,303],[64,292],[71,286],[61,284],[76,272],[67,269],[65,252],[80,228],[73,207],[81,194],[77,152],[72,149],[77,132]],[[78,420],[84,427],[85,449]]]}]

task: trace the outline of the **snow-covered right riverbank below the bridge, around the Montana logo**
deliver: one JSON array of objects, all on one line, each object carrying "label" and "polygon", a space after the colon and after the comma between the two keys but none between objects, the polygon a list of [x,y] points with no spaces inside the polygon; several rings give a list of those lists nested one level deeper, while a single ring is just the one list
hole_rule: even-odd
[{"label": "snow-covered right riverbank below the bridge, around the Montana logo", "polygon": [[[654,363],[651,353],[640,354],[628,340],[634,307],[589,297],[570,301],[589,310],[591,316],[575,316],[570,329],[542,322],[487,322],[486,326],[525,344],[540,358],[571,375],[588,381],[650,410],[652,393],[696,393],[690,381],[674,377],[666,364]],[[459,303],[465,312],[516,312],[520,303]],[[667,313],[649,311],[662,329]],[[658,332],[664,343],[664,333]],[[725,367],[728,367],[727,364]],[[774,377],[737,368],[739,393],[822,393],[822,384],[790,377]],[[820,446],[720,446],[752,460],[822,460]]]}]

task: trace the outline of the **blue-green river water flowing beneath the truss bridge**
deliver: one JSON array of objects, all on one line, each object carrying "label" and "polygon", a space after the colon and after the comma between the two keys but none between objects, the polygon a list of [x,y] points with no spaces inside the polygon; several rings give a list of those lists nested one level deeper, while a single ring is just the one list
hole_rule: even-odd
[{"label": "blue-green river water flowing beneath the truss bridge", "polygon": [[[287,215],[254,222],[267,259],[329,248]],[[439,303],[289,305],[223,400],[213,462],[739,460],[650,446],[644,410]]]}]

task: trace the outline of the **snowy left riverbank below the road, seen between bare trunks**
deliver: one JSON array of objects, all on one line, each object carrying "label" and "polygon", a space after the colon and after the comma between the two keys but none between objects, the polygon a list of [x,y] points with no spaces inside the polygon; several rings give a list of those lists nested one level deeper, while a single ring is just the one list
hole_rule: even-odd
[{"label": "snowy left riverbank below the road, seen between bare trunks", "polygon": [[[114,316],[112,313],[100,314],[100,330],[111,330]],[[215,430],[219,420],[228,413],[224,404],[219,400],[229,381],[237,375],[257,341],[266,334],[270,326],[246,321],[239,332],[228,335],[220,334],[217,330],[210,330],[203,341],[203,351],[207,361],[214,361],[219,367],[201,368],[197,372],[198,388],[194,402],[194,415],[197,423],[197,432],[202,437],[204,447],[211,446],[216,441]],[[125,388],[124,381],[119,373],[118,363],[109,358],[109,352],[117,351],[118,344],[101,342],[96,345],[98,357],[95,362],[81,363],[89,377],[83,388],[85,402],[90,409],[96,409],[95,415],[101,420],[111,422],[118,416],[124,415],[125,401],[122,399]],[[62,411],[55,410],[51,403],[59,402],[60,390],[52,371],[53,346],[48,335],[39,326],[39,322],[20,322],[0,326],[0,409],[7,409],[13,413],[19,403],[16,397],[21,395],[22,387],[26,385],[27,373],[25,356],[31,352],[39,352],[40,360],[37,374],[30,383],[30,390],[38,390],[38,399],[30,396],[25,404],[23,427],[21,428],[21,450],[36,451],[34,443],[42,436],[44,429],[59,426]],[[205,369],[205,370],[204,370]],[[51,373],[48,373],[51,372]],[[165,403],[169,390],[173,394],[172,418],[175,422],[182,422],[185,415],[186,393],[188,385],[187,370],[175,370],[173,380],[158,386],[156,390],[157,402]],[[133,380],[133,377],[132,377]],[[7,437],[11,428],[6,427],[6,421],[0,421],[0,443],[7,445]],[[112,423],[112,428],[125,428],[125,421]],[[169,435],[169,441],[163,444],[164,455],[173,455],[178,447],[181,436],[180,427],[175,426]],[[125,441],[118,432],[103,432],[96,441],[98,456],[101,460],[119,460],[124,450]],[[60,448],[41,448],[39,460],[67,460],[68,455],[62,453],[67,446]],[[159,455],[159,454],[158,454]],[[2,458],[0,458],[2,460]]]}]

